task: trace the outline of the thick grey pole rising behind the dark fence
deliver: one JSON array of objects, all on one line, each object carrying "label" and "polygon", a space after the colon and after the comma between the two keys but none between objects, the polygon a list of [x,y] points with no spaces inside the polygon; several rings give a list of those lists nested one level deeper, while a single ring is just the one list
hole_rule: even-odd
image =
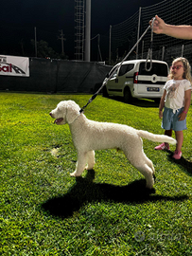
[{"label": "thick grey pole rising behind the dark fence", "polygon": [[85,62],[90,62],[91,48],[91,0],[86,0]]}]

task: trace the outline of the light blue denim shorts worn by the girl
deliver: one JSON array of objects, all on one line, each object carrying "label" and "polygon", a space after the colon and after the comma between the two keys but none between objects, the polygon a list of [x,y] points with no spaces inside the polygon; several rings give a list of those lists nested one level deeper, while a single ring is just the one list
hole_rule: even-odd
[{"label": "light blue denim shorts worn by the girl", "polygon": [[174,114],[173,109],[165,107],[163,113],[162,128],[176,132],[186,130],[186,119],[180,121],[178,118],[182,112],[183,108],[180,108]]}]

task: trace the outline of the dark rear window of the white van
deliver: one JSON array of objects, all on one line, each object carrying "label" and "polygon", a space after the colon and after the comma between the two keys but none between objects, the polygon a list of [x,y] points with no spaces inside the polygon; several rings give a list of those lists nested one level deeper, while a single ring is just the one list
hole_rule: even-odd
[{"label": "dark rear window of the white van", "polygon": [[[167,71],[167,65],[166,64],[157,64],[157,63],[152,63],[152,68],[150,71],[146,71],[145,67],[146,63],[141,63],[139,66],[139,75],[144,75],[144,76],[151,76],[153,74],[156,74],[157,76],[161,77],[167,77],[168,71]],[[147,68],[149,68],[150,63],[148,62]]]}]

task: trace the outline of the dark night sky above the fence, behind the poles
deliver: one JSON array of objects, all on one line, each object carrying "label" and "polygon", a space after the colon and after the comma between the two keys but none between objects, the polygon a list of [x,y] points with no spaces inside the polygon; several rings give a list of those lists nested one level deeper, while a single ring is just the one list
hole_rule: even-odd
[{"label": "dark night sky above the fence, behind the poles", "polygon": [[[110,25],[123,22],[139,7],[148,7],[162,1],[157,0],[92,0],[92,37],[105,34]],[[64,50],[70,59],[74,54],[75,0],[9,0],[0,9],[0,54],[12,54],[18,47],[27,52],[28,42],[34,39],[47,41],[54,50],[61,50],[59,29],[66,37]],[[156,14],[156,13],[154,13]],[[150,18],[150,17],[149,17]],[[148,27],[148,25],[146,25]],[[44,34],[46,36],[44,37]],[[26,53],[27,54],[27,53]]]}]

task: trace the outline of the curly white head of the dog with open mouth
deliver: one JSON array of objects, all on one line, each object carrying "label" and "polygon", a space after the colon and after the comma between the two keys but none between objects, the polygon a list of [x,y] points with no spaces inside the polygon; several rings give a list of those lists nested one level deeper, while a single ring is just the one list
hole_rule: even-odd
[{"label": "curly white head of the dog with open mouth", "polygon": [[72,123],[80,115],[79,105],[75,101],[61,101],[49,115],[56,124]]}]

